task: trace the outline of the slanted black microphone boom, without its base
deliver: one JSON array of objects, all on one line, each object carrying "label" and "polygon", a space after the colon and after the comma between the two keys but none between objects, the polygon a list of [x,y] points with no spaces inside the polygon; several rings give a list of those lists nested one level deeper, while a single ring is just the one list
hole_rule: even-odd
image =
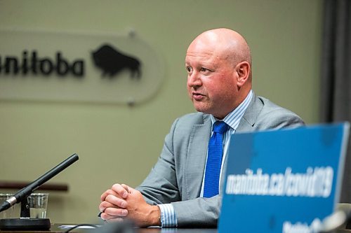
[{"label": "slanted black microphone boom, without its base", "polygon": [[77,160],[79,160],[78,155],[73,154],[69,156],[65,161],[61,162],[53,169],[46,172],[46,174],[37,178],[37,180],[33,181],[32,183],[29,183],[29,185],[27,185],[25,188],[22,188],[20,191],[16,192],[15,195],[13,195],[13,197],[7,199],[6,202],[4,202],[4,204],[0,206],[0,212],[5,211],[6,209],[10,208],[16,203],[22,202],[22,200],[27,198],[27,196],[29,196],[34,190],[37,190],[37,188],[43,185],[46,181],[53,178],[53,176],[59,174],[61,171],[69,167],[69,165],[76,162]]}]

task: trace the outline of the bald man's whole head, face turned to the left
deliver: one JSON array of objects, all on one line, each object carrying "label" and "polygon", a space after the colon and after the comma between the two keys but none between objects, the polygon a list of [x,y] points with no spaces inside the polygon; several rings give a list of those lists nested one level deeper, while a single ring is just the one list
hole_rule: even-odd
[{"label": "bald man's whole head, face turned to the left", "polygon": [[218,119],[237,108],[251,90],[249,45],[236,31],[213,29],[197,36],[187,49],[185,68],[194,107]]}]

